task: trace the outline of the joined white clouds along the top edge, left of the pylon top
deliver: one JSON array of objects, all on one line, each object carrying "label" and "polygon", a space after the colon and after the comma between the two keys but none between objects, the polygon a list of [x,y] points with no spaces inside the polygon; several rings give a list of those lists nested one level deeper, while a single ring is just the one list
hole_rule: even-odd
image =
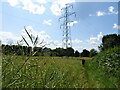
[{"label": "joined white clouds along the top edge, left of the pylon top", "polygon": [[4,0],[8,2],[12,7],[19,7],[24,10],[29,11],[33,14],[43,14],[45,12],[45,7],[43,4],[47,2],[52,2],[50,10],[54,15],[60,16],[62,11],[61,8],[65,7],[65,4],[75,2],[75,0]]}]

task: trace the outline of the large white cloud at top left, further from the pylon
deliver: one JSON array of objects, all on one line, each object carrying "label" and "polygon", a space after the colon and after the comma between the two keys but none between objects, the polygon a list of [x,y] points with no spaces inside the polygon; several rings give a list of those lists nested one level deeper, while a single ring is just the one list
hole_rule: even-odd
[{"label": "large white cloud at top left, further from the pylon", "polygon": [[[46,3],[45,0],[35,0],[37,3]],[[45,7],[38,5],[34,0],[6,0],[12,7],[19,7],[23,10],[27,10],[32,14],[43,14]]]}]

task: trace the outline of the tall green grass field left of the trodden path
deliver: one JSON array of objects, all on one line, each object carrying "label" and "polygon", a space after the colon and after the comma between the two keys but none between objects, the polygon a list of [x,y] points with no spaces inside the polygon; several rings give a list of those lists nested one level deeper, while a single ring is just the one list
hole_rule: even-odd
[{"label": "tall green grass field left of the trodden path", "polygon": [[[3,87],[8,88],[84,88],[89,87],[84,67],[75,57],[30,57],[16,73],[25,56],[3,55]],[[90,58],[85,58],[90,60]]]}]

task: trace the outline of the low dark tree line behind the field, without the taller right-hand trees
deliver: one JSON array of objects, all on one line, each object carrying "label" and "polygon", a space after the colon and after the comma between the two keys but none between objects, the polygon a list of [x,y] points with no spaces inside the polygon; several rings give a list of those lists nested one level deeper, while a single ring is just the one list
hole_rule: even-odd
[{"label": "low dark tree line behind the field, without the taller right-hand trees", "polygon": [[97,54],[95,49],[91,49],[90,51],[84,49],[82,53],[79,51],[75,51],[73,48],[69,47],[67,49],[64,48],[41,48],[41,47],[27,47],[20,45],[4,45],[2,44],[2,53],[5,55],[24,55],[31,56],[34,52],[34,56],[58,56],[58,57],[92,57]]}]

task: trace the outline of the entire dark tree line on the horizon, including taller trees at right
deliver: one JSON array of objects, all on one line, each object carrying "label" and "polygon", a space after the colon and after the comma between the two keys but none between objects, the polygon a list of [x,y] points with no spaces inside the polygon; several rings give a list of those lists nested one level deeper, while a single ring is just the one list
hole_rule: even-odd
[{"label": "entire dark tree line on the horizon, including taller trees at right", "polygon": [[[100,52],[107,50],[109,48],[113,48],[115,46],[120,45],[120,35],[110,34],[105,35],[102,38],[102,43],[98,46]],[[3,45],[2,44],[2,53],[5,55],[14,54],[14,55],[25,55],[31,56],[34,52],[34,56],[58,56],[58,57],[93,57],[98,54],[97,50],[91,49],[90,51],[83,49],[80,53],[77,50],[75,51],[72,47],[67,49],[64,48],[41,48],[41,47],[28,47],[21,45]]]}]

